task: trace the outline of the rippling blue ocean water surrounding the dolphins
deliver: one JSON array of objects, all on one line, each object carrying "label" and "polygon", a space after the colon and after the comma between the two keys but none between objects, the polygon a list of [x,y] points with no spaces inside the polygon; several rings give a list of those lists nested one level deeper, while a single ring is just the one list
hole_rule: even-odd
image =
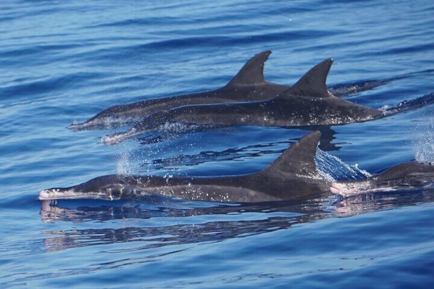
[{"label": "rippling blue ocean water surrounding the dolphins", "polygon": [[[110,173],[258,171],[306,130],[229,127],[104,146],[71,131],[115,105],[225,85],[272,50],[291,85],[333,57],[328,83],[388,79],[375,108],[434,91],[432,1],[2,1],[0,287],[433,287],[434,191],[219,205],[37,200]],[[335,177],[434,161],[434,106],[335,126]]]}]

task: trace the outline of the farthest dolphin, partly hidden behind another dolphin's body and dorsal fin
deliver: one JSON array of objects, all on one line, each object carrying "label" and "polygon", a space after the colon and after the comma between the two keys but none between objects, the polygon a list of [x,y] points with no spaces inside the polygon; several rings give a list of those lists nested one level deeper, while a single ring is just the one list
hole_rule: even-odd
[{"label": "farthest dolphin, partly hidden behind another dolphin's body and dorsal fin", "polygon": [[[274,98],[291,86],[276,84],[264,79],[264,63],[270,54],[271,51],[267,50],[253,56],[228,84],[217,90],[115,105],[103,110],[88,121],[71,124],[69,128],[73,130],[99,129],[137,123],[142,118],[160,110],[167,111],[184,105],[248,102]],[[336,84],[330,87],[330,91],[336,96],[345,96],[370,90],[392,80],[366,80]]]}]

